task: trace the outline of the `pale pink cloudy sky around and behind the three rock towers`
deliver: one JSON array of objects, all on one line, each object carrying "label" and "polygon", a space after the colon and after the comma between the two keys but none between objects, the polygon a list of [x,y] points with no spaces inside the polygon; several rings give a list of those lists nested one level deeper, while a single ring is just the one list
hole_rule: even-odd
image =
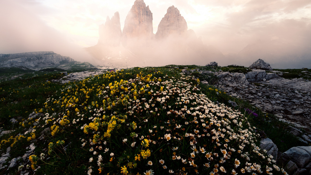
[{"label": "pale pink cloudy sky around and behind the three rock towers", "polygon": [[[310,45],[310,0],[145,0],[153,31],[169,6],[177,7],[203,43],[223,54],[256,40]],[[97,44],[98,26],[114,12],[121,29],[134,0],[2,0],[0,53],[66,50]]]}]

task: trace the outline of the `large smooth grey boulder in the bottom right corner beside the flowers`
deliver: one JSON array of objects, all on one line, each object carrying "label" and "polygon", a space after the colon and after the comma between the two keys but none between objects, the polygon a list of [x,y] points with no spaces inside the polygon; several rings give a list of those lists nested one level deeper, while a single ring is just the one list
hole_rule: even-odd
[{"label": "large smooth grey boulder in the bottom right corner beside the flowers", "polygon": [[285,151],[280,159],[280,161],[283,163],[291,160],[292,162],[296,163],[299,168],[304,168],[304,166],[311,160],[311,155],[304,149],[292,147]]}]

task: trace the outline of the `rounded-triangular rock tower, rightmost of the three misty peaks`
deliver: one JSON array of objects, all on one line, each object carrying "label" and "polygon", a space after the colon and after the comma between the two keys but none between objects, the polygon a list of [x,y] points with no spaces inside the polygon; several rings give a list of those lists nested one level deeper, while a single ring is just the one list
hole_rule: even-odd
[{"label": "rounded-triangular rock tower, rightmost of the three misty peaks", "polygon": [[182,35],[187,29],[186,20],[177,8],[171,6],[159,23],[156,39],[167,38],[169,35]]}]

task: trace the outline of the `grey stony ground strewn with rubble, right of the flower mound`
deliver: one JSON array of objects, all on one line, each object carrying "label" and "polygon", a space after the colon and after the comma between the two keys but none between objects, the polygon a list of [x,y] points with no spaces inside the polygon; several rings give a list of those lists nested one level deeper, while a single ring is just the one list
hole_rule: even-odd
[{"label": "grey stony ground strewn with rubble, right of the flower mound", "polygon": [[[297,128],[311,128],[311,82],[277,77],[250,83],[244,73],[214,74],[219,78],[214,86],[229,95],[247,100],[262,111],[276,114],[280,121],[293,124]],[[293,134],[301,135],[294,131]],[[311,135],[299,137],[304,143],[311,142]]]}]

